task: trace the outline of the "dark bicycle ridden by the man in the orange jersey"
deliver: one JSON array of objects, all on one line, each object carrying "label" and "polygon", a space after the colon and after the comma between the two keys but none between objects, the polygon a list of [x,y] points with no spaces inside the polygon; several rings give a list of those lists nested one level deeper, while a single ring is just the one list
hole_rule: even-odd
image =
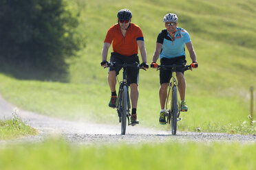
[{"label": "dark bicycle ridden by the man in the orange jersey", "polygon": [[[130,104],[130,98],[129,98],[129,86],[127,83],[127,66],[133,66],[138,67],[139,69],[143,69],[140,67],[140,64],[138,62],[135,62],[133,64],[116,64],[115,62],[111,62],[107,64],[107,66],[120,66],[122,67],[122,81],[119,82],[119,90],[118,90],[118,97],[117,97],[117,112],[119,117],[119,123],[121,123],[121,134],[125,134],[126,131],[126,121],[128,119],[128,125],[135,125],[129,123],[129,117],[131,117],[130,110],[131,110],[131,104]],[[145,69],[144,69],[145,70]],[[136,121],[136,124],[139,122]]]}]

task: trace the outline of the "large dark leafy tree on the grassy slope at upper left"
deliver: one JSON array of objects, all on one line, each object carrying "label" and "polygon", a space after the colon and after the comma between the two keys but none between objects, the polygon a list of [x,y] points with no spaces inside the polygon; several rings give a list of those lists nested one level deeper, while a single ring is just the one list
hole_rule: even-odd
[{"label": "large dark leafy tree on the grassy slope at upper left", "polygon": [[[14,66],[21,78],[67,73],[65,59],[84,44],[76,32],[78,19],[66,6],[63,0],[1,0],[1,65]],[[15,75],[13,68],[3,68]]]}]

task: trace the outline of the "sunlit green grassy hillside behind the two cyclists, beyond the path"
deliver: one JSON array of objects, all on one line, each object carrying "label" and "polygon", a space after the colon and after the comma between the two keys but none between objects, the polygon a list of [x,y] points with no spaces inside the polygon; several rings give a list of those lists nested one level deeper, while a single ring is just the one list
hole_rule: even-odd
[{"label": "sunlit green grassy hillside behind the two cyclists, beyond the path", "polygon": [[[246,128],[250,128],[249,88],[256,85],[255,1],[76,0],[70,2],[69,7],[75,12],[81,11],[78,30],[86,35],[87,45],[79,51],[80,58],[67,61],[70,82],[19,80],[0,73],[0,93],[10,103],[52,117],[118,123],[116,110],[107,107],[110,97],[107,69],[100,67],[107,29],[116,23],[118,10],[131,10],[132,22],[140,25],[145,36],[150,63],[156,37],[164,29],[162,17],[173,12],[178,14],[178,26],[191,35],[199,62],[198,69],[185,73],[189,112],[182,114],[178,129],[248,133],[248,130],[237,129],[244,122]],[[187,61],[191,63],[188,53]],[[140,71],[138,119],[141,126],[167,128],[158,124],[159,86],[156,70]],[[255,131],[254,125],[250,133]]]}]

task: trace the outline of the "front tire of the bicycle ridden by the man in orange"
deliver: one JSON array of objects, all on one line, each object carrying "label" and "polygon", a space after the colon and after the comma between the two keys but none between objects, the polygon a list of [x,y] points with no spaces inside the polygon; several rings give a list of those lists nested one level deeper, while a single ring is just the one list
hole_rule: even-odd
[{"label": "front tire of the bicycle ridden by the man in orange", "polygon": [[121,134],[125,134],[127,121],[127,86],[123,87],[122,92],[122,121],[121,121]]}]

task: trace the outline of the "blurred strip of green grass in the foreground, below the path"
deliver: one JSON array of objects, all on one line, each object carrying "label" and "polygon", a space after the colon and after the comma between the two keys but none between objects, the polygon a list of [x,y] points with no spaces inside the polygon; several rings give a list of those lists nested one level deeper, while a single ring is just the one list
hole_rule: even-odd
[{"label": "blurred strip of green grass in the foreground, below the path", "polygon": [[0,169],[255,169],[256,145],[70,145],[49,140],[0,149]]}]

